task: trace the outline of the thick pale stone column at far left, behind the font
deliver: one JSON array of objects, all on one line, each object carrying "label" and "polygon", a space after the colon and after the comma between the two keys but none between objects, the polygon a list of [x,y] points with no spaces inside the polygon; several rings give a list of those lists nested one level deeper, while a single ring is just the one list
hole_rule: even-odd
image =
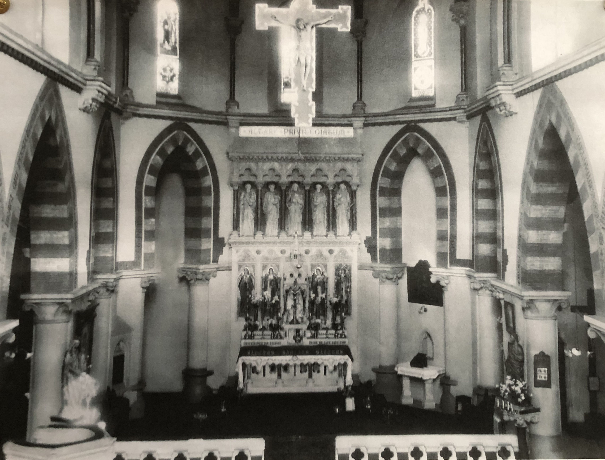
[{"label": "thick pale stone column at far left, behind the font", "polygon": [[[33,297],[28,296],[28,297]],[[65,299],[52,301],[36,296],[24,298],[24,309],[33,310],[34,337],[31,357],[30,404],[27,415],[27,440],[31,441],[36,428],[50,423],[50,417],[59,415],[63,403],[62,369],[68,348],[71,305]]]}]

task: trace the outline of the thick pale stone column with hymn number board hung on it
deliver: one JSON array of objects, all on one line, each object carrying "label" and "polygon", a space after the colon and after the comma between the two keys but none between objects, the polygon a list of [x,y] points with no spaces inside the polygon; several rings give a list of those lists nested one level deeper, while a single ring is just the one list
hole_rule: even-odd
[{"label": "thick pale stone column with hymn number board hung on it", "polygon": [[[525,318],[526,380],[532,405],[540,407],[540,421],[529,428],[534,435],[561,434],[561,399],[559,390],[559,361],[557,310],[569,307],[570,292],[523,292]],[[551,358],[551,388],[537,388],[534,379],[534,356],[543,351]],[[564,385],[564,382],[563,382]]]}]

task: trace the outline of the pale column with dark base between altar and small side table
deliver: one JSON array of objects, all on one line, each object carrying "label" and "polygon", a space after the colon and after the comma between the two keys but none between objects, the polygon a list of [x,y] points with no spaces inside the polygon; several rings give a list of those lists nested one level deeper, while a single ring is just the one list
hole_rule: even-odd
[{"label": "pale column with dark base between altar and small side table", "polygon": [[405,265],[376,264],[372,276],[379,280],[380,304],[380,360],[376,372],[374,391],[383,394],[388,401],[398,401],[401,385],[395,372],[399,337],[397,334],[397,284],[405,274]]}]

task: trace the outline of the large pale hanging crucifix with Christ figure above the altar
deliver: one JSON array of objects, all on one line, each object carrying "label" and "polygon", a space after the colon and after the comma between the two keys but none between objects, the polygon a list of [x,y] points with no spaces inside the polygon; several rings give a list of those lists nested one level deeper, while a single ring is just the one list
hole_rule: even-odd
[{"label": "large pale hanging crucifix with Christ figure above the altar", "polygon": [[289,8],[256,6],[258,30],[269,26],[281,29],[282,101],[290,103],[295,126],[311,126],[315,117],[315,29],[335,27],[351,30],[351,7],[318,9],[313,0],[292,0]]}]

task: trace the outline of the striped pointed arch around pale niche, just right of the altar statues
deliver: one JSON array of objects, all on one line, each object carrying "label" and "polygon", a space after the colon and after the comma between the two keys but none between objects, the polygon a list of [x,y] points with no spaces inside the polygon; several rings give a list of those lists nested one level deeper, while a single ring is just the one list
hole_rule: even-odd
[{"label": "striped pointed arch around pale niche, just right of the altar statues", "polygon": [[[378,158],[371,183],[373,261],[402,261],[401,188],[415,156],[427,166],[437,197],[437,266],[456,264],[456,183],[445,152],[433,136],[416,125],[405,126]],[[374,243],[375,241],[375,243]],[[375,246],[374,246],[375,244]]]}]

